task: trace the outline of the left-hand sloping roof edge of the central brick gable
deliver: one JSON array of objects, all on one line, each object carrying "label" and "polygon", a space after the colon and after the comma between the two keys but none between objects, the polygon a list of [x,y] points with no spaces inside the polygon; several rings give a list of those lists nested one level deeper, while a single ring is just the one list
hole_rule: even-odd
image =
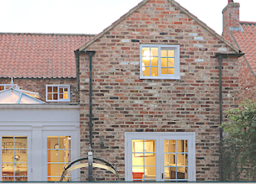
[{"label": "left-hand sloping roof edge of the central brick gable", "polygon": [[111,24],[109,27],[105,28],[105,30],[102,31],[102,33],[99,33],[97,36],[94,37],[94,39],[90,40],[89,42],[86,43],[86,45],[82,46],[81,48],[79,48],[79,51],[83,51],[84,49],[86,49],[87,46],[91,45],[92,43],[94,43],[96,40],[98,40],[102,35],[104,35],[105,33],[107,33],[109,30],[111,30],[113,27],[115,27],[117,24],[119,24],[120,22],[124,21],[125,18],[127,18],[128,16],[130,16],[131,14],[134,13],[134,11],[138,10],[139,8],[141,8],[141,6],[143,6],[144,4],[146,4],[148,1],[150,0],[144,0],[143,2],[140,2],[137,6],[135,6],[134,8],[132,8],[130,11],[128,11],[128,13],[124,14],[122,17],[120,17],[118,19],[118,21],[115,21],[113,24]]}]

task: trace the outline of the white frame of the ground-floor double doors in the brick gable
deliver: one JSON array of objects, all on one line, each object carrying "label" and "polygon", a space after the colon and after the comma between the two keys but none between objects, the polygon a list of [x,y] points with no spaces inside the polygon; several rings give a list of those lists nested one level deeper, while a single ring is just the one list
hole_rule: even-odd
[{"label": "white frame of the ground-floor double doors in the brick gable", "polygon": [[[157,182],[164,182],[161,174],[164,173],[164,140],[188,140],[189,145],[189,182],[196,181],[196,133],[195,132],[125,132],[125,181],[132,179],[132,140],[134,139],[155,139],[156,140],[156,170]],[[160,154],[160,155],[159,155]],[[163,155],[163,157],[162,157]]]}]

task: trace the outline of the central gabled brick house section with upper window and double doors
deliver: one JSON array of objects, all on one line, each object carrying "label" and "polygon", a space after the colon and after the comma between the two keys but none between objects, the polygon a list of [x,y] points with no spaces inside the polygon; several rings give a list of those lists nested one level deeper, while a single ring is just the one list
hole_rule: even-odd
[{"label": "central gabled brick house section with upper window and double doors", "polygon": [[144,0],[78,52],[81,154],[90,142],[125,181],[219,179],[222,108],[238,106],[237,47],[177,2]]}]

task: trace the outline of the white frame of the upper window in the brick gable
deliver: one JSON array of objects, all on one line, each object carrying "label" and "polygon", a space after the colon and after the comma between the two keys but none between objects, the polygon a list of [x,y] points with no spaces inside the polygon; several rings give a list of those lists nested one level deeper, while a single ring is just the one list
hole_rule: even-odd
[{"label": "white frame of the upper window in the brick gable", "polygon": [[[142,65],[142,47],[158,47],[158,76],[143,76]],[[161,75],[160,51],[161,49],[174,50],[174,75]],[[179,45],[157,45],[141,44],[140,45],[140,78],[141,79],[180,79],[180,46]]]}]

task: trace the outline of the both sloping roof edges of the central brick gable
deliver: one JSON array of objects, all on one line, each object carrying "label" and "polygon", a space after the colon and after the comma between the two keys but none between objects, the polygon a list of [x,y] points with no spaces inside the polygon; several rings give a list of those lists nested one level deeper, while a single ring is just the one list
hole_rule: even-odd
[{"label": "both sloping roof edges of the central brick gable", "polygon": [[[143,5],[145,5],[147,2],[149,2],[151,0],[143,0],[142,2],[140,2],[137,6],[135,6],[134,8],[132,8],[130,11],[128,11],[128,13],[126,13],[125,15],[123,15],[122,17],[120,17],[118,19],[118,21],[115,21],[112,25],[110,25],[109,27],[105,28],[105,30],[102,31],[102,33],[99,33],[98,35],[96,35],[92,40],[90,40],[89,42],[87,42],[84,46],[82,46],[81,48],[79,48],[80,51],[83,51],[86,49],[87,46],[91,45],[92,43],[94,43],[96,40],[98,40],[102,35],[104,35],[105,33],[107,33],[109,30],[111,30],[113,27],[115,27],[117,24],[119,24],[120,22],[124,21],[125,18],[127,18],[128,16],[130,16],[131,14],[134,13],[134,11],[137,11],[139,8],[141,8]],[[230,48],[232,48],[233,50],[235,50],[235,52],[239,53],[240,50],[238,48],[236,48],[235,46],[232,45],[232,43],[229,43],[228,40],[225,40],[224,37],[220,36],[218,33],[216,33],[214,30],[212,30],[210,27],[208,27],[205,23],[203,23],[203,21],[200,21],[195,15],[191,14],[189,11],[186,10],[186,8],[183,8],[179,3],[175,2],[174,0],[169,0],[170,3],[172,3],[173,5],[177,6],[177,8],[180,8],[181,11],[183,11],[185,14],[187,14],[189,17],[193,18],[194,21],[196,21],[199,25],[201,25],[203,28],[205,28],[206,30],[208,30],[210,33],[212,33],[214,36],[216,36],[217,38],[219,38],[219,40],[222,40],[223,43],[225,43],[227,46],[229,46]]]}]

